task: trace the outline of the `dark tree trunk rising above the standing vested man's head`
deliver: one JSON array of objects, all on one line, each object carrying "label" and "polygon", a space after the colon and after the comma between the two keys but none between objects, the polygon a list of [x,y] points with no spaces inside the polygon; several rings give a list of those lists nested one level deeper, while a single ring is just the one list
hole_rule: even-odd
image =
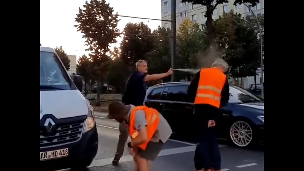
[{"label": "dark tree trunk rising above the standing vested man's head", "polygon": [[214,30],[212,25],[212,7],[207,5],[207,11],[206,11],[206,28],[207,28],[207,49],[210,49],[210,47],[215,48],[215,36],[214,36]]}]

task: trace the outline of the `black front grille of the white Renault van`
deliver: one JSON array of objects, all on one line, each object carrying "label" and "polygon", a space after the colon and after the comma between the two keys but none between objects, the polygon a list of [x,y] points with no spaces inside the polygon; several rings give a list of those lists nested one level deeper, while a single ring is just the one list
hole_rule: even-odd
[{"label": "black front grille of the white Renault van", "polygon": [[78,141],[82,135],[84,121],[60,125],[51,134],[40,128],[40,148],[69,144]]}]

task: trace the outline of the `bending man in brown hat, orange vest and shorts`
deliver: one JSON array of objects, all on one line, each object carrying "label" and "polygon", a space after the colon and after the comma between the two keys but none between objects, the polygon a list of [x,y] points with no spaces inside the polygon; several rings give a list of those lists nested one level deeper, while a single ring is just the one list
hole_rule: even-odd
[{"label": "bending man in brown hat, orange vest and shorts", "polygon": [[126,123],[129,128],[136,169],[150,171],[151,161],[157,157],[164,143],[172,134],[167,120],[155,109],[147,106],[123,105],[112,102],[107,118]]}]

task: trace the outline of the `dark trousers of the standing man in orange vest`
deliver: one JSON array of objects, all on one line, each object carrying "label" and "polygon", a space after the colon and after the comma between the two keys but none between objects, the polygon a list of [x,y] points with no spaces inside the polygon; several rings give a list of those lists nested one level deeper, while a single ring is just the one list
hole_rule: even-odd
[{"label": "dark trousers of the standing man in orange vest", "polygon": [[203,166],[205,170],[211,168],[220,170],[221,156],[219,145],[216,141],[216,126],[208,128],[208,120],[215,119],[216,110],[208,106],[196,107],[195,116],[198,121],[199,150],[202,161],[200,165]]}]

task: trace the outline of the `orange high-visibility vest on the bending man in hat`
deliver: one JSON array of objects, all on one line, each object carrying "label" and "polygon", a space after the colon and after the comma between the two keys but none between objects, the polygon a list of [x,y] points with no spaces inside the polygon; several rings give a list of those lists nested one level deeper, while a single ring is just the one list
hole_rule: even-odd
[{"label": "orange high-visibility vest on the bending man in hat", "polygon": [[135,112],[137,110],[144,110],[146,113],[146,120],[147,120],[146,129],[147,129],[148,140],[146,142],[138,145],[138,147],[145,150],[147,148],[148,142],[150,141],[150,139],[154,135],[155,131],[157,130],[158,123],[159,123],[159,113],[157,112],[157,110],[155,110],[153,108],[149,108],[147,106],[136,106],[132,110],[131,115],[130,115],[129,131],[130,131],[130,136],[132,138],[136,138],[136,136],[138,135],[138,132],[135,129]]}]

